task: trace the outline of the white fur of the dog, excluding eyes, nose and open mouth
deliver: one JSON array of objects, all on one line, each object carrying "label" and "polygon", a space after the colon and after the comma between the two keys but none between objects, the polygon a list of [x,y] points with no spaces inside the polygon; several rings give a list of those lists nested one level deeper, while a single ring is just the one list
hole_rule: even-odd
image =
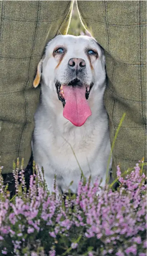
[{"label": "white fur of the dog, excluding eyes, nose and open mouth", "polygon": [[[66,46],[67,53],[58,68],[57,58],[52,56],[56,46]],[[85,48],[95,48],[99,58],[92,59],[90,68]],[[69,83],[67,64],[71,58],[84,59],[86,74],[83,80],[87,85],[93,82],[88,102],[92,115],[81,127],[74,126],[63,117],[62,102],[57,96],[55,83]],[[85,177],[98,176],[105,184],[107,161],[110,153],[108,116],[104,108],[103,95],[106,86],[105,58],[95,39],[86,36],[59,35],[47,44],[42,67],[41,101],[35,114],[33,133],[33,157],[39,167],[43,166],[47,186],[52,191],[53,178],[66,192],[73,180],[71,191],[76,193],[81,177],[78,162]],[[68,143],[66,142],[68,141]],[[76,158],[71,149],[71,144]]]}]

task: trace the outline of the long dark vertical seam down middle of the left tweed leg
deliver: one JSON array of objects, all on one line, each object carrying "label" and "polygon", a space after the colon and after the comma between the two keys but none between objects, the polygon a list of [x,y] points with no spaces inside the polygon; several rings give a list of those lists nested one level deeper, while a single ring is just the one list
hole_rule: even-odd
[{"label": "long dark vertical seam down middle of the left tweed leg", "polygon": [[[33,51],[34,51],[34,47],[35,47],[35,39],[36,39],[36,34],[37,34],[37,31],[38,31],[38,25],[39,25],[39,17],[40,17],[40,7],[41,7],[41,2],[38,1],[38,10],[37,10],[37,15],[36,15],[36,27],[35,27],[35,32],[34,32],[34,35],[33,35],[33,44],[32,44],[32,50],[31,50],[31,57],[30,57],[30,61],[29,61],[29,64],[28,64],[28,80],[23,88],[23,95],[24,95],[24,92],[25,92],[25,89],[26,89],[26,86],[28,85],[29,81],[30,81],[30,68],[31,68],[31,60],[32,60],[32,57],[33,57]],[[24,126],[22,127],[22,131],[21,131],[21,136],[19,138],[19,145],[18,145],[18,156],[21,152],[21,146],[22,146],[22,141],[23,141],[23,138],[24,138],[24,130],[26,128],[26,125],[27,125],[27,102],[26,102],[26,97],[24,95],[24,101],[25,101],[25,109],[24,109],[24,114],[25,114],[25,121],[24,121]]]}]

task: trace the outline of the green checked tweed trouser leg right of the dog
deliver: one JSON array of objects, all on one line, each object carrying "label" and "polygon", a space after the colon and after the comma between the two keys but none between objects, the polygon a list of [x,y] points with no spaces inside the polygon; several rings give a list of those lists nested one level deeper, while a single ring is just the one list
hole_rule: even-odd
[{"label": "green checked tweed trouser leg right of the dog", "polygon": [[133,167],[146,149],[146,1],[77,1],[81,21],[104,48],[111,142],[116,139],[112,169]]}]

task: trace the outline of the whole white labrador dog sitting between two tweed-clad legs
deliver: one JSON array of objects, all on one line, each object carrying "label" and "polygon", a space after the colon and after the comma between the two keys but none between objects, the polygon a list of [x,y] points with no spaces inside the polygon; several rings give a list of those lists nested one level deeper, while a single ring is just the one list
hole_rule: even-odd
[{"label": "whole white labrador dog sitting between two tweed-clad legs", "polygon": [[66,193],[73,181],[70,188],[76,193],[81,177],[78,163],[86,178],[102,178],[104,185],[110,140],[101,47],[91,37],[59,35],[47,44],[34,87],[40,77],[32,147],[34,160],[44,168],[48,188],[52,191],[56,174],[62,192]]}]

